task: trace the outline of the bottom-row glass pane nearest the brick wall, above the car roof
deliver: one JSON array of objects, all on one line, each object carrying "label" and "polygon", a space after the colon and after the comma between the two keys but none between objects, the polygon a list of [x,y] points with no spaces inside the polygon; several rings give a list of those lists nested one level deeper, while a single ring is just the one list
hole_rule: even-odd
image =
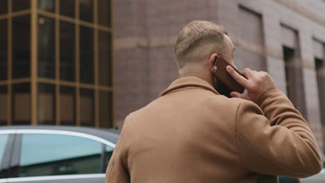
[{"label": "bottom-row glass pane nearest the brick wall, above the car roof", "polygon": [[112,128],[112,93],[111,92],[99,92],[99,127],[100,128]]}]

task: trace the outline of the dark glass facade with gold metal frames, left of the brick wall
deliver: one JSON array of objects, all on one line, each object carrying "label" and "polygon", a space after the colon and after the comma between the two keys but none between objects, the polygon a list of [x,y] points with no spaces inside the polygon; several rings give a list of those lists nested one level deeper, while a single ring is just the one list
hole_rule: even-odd
[{"label": "dark glass facade with gold metal frames, left of the brick wall", "polygon": [[0,1],[0,124],[113,126],[107,0]]}]

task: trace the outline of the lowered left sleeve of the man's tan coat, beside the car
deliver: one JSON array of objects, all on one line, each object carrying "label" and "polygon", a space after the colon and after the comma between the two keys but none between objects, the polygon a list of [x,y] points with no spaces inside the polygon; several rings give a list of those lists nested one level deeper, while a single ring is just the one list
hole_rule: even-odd
[{"label": "lowered left sleeve of the man's tan coat, beside the car", "polygon": [[105,183],[129,183],[130,175],[127,168],[127,153],[125,148],[125,128],[126,121],[124,122],[124,127],[120,135],[119,141],[117,142],[113,155],[106,168]]}]

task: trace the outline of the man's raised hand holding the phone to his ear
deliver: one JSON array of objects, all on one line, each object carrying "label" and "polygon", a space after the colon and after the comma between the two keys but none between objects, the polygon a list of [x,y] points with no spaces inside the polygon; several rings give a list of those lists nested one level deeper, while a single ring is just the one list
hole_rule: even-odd
[{"label": "man's raised hand holding the phone to his ear", "polygon": [[243,98],[256,103],[260,96],[262,96],[269,89],[276,89],[276,84],[274,83],[269,73],[264,71],[251,71],[251,69],[244,69],[244,78],[240,76],[232,67],[226,67],[228,73],[245,89],[247,89],[247,94],[240,94],[238,92],[231,92],[231,96]]}]

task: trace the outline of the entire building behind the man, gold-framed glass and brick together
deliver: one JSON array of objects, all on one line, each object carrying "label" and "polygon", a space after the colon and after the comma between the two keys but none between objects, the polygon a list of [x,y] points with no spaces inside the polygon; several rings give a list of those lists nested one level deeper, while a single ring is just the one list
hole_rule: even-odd
[{"label": "entire building behind the man, gold-framed glass and brick together", "polygon": [[121,129],[178,78],[178,33],[202,19],[228,30],[240,70],[272,75],[323,149],[324,12],[324,0],[1,0],[0,125]]}]

